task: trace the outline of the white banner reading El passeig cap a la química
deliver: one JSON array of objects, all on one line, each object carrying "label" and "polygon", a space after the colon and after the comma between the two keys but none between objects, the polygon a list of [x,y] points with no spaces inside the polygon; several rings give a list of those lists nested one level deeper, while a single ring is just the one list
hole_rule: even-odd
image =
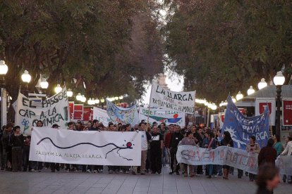
[{"label": "white banner reading El passeig cap a la qu\u00edmica", "polygon": [[38,120],[43,122],[44,127],[59,124],[66,128],[66,124],[69,122],[68,112],[66,88],[42,102],[32,101],[22,93],[18,93],[16,125],[20,126],[21,131],[28,135],[31,133],[31,128],[37,126]]}]

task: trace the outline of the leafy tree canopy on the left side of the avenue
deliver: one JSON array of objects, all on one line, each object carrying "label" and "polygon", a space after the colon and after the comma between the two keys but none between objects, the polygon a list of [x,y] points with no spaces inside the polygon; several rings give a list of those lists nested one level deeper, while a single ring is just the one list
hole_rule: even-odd
[{"label": "leafy tree canopy on the left side of the avenue", "polygon": [[143,84],[163,70],[155,6],[152,0],[1,1],[6,89],[16,99],[28,70],[30,92],[42,74],[48,91],[65,83],[87,97],[140,98]]}]

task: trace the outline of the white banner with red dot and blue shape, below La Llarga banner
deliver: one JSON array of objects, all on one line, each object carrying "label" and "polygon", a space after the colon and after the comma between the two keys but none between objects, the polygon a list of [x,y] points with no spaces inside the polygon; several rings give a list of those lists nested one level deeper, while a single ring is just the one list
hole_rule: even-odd
[{"label": "white banner with red dot and blue shape, below La Llarga banner", "polygon": [[[139,110],[139,119],[145,119],[147,121],[148,118],[148,108],[140,107]],[[162,110],[162,109],[152,109],[150,108],[149,114],[149,122],[152,124],[153,122],[157,122],[157,124],[161,124],[164,122],[165,124],[177,124],[181,127],[185,127],[185,113],[177,112],[173,110]]]}]

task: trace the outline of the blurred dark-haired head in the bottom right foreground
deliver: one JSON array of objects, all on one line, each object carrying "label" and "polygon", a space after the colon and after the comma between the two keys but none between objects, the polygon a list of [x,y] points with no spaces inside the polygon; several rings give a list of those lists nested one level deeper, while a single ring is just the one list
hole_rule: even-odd
[{"label": "blurred dark-haired head in the bottom right foreground", "polygon": [[257,174],[257,194],[272,194],[279,181],[279,169],[273,164],[263,164]]}]

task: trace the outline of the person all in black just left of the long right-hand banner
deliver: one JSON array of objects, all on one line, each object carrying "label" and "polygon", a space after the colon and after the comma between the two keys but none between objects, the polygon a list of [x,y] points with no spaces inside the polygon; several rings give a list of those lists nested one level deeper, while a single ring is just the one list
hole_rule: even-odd
[{"label": "person all in black just left of the long right-hand banner", "polygon": [[169,151],[171,153],[171,172],[169,174],[174,174],[174,162],[176,162],[176,174],[179,175],[179,164],[176,160],[176,152],[178,151],[178,143],[183,139],[183,134],[179,128],[171,134],[171,141],[169,143]]}]

